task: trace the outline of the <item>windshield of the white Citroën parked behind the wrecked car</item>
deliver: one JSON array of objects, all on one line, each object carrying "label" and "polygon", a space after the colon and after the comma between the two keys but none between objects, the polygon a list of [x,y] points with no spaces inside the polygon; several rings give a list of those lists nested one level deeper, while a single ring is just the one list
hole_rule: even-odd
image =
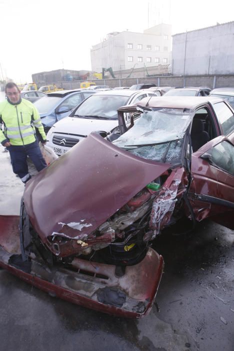
[{"label": "windshield of the white Citro\u00ebn parked behind the wrecked car", "polygon": [[128,96],[120,95],[92,95],[75,110],[73,116],[117,119],[117,109],[124,106],[128,99]]}]

